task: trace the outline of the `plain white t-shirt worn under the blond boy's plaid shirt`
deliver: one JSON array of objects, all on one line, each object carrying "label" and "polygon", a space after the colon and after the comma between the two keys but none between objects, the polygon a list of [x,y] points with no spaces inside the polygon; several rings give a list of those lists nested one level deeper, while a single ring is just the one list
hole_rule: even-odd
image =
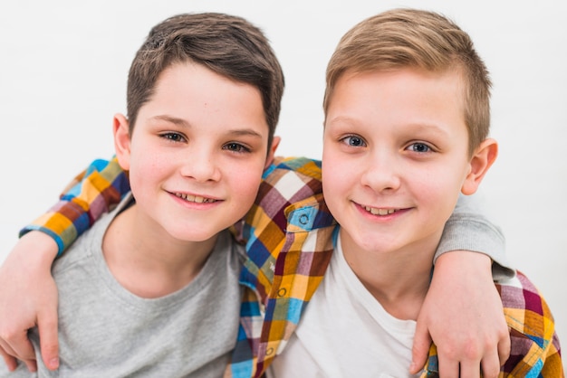
[{"label": "plain white t-shirt worn under the blond boy's plaid shirt", "polygon": [[390,316],[344,260],[341,240],[270,377],[413,377],[413,320]]}]

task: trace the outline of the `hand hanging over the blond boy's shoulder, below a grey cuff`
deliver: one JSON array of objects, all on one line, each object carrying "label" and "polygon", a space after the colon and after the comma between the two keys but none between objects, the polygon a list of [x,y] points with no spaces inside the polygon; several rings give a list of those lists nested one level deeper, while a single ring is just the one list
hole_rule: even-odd
[{"label": "hand hanging over the blond boy's shoulder, below a grey cuff", "polygon": [[437,259],[418,316],[410,373],[437,345],[441,377],[497,377],[510,355],[510,335],[495,288],[492,261],[482,253],[452,251]]}]

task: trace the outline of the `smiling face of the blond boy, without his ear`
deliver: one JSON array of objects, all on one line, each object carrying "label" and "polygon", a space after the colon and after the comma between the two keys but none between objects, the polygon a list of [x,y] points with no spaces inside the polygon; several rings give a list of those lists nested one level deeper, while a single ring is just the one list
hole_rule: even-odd
[{"label": "smiling face of the blond boy, without his ear", "polygon": [[435,249],[470,171],[461,84],[413,69],[338,80],[322,181],[345,253]]}]

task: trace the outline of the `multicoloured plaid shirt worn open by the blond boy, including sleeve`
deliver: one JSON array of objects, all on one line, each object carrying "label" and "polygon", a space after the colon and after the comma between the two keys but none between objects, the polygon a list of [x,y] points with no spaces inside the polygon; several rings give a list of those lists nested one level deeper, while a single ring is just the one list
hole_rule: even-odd
[{"label": "multicoloured plaid shirt worn open by the blond boy, including sleeve", "polygon": [[[22,233],[47,232],[62,252],[129,191],[116,159],[97,160],[49,213]],[[277,159],[264,174],[254,207],[234,228],[248,255],[240,278],[245,296],[238,340],[227,377],[260,377],[281,353],[322,281],[336,227],[322,198],[320,162]],[[512,337],[500,376],[564,377],[553,317],[537,289],[521,273],[496,287]],[[437,349],[432,345],[422,377],[436,376]]]}]

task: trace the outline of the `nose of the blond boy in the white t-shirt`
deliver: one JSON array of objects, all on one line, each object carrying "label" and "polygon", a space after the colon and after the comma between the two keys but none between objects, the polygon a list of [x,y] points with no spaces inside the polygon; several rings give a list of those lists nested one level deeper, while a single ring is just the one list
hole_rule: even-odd
[{"label": "nose of the blond boy in the white t-shirt", "polygon": [[376,193],[389,193],[399,189],[400,162],[388,151],[376,151],[368,156],[364,165],[361,184]]}]

